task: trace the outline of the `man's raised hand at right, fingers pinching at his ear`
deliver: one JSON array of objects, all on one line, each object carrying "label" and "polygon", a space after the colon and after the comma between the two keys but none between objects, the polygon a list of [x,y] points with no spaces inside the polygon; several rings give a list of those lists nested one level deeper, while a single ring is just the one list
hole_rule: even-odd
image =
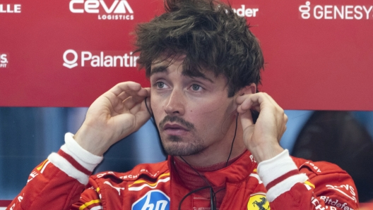
[{"label": "man's raised hand at right, fingers pinching at his ear", "polygon": [[[283,152],[279,142],[286,130],[288,116],[276,101],[268,94],[259,92],[237,97],[237,104],[244,144],[256,161],[271,159]],[[255,124],[250,109],[259,111],[259,118]]]}]

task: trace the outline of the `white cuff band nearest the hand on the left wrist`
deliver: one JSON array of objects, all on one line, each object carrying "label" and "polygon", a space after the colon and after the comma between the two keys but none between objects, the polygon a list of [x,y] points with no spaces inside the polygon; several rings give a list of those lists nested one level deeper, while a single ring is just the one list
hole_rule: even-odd
[{"label": "white cuff band nearest the hand on the left wrist", "polygon": [[61,150],[69,154],[88,171],[93,171],[103,159],[102,156],[97,156],[83,149],[83,147],[73,139],[73,134],[71,132],[66,133],[65,144],[62,145]]}]

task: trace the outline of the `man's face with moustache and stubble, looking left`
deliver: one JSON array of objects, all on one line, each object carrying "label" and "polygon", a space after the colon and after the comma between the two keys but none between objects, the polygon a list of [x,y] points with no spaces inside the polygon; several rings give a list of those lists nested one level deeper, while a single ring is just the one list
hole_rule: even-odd
[{"label": "man's face with moustache and stubble, looking left", "polygon": [[208,70],[200,77],[183,75],[183,60],[156,63],[150,73],[151,108],[163,147],[174,156],[214,151],[235,119],[225,76]]}]

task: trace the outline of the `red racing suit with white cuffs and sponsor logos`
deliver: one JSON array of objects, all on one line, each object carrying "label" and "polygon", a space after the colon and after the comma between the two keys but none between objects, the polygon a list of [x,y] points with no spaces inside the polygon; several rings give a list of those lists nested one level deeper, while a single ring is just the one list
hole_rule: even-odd
[{"label": "red racing suit with white cuffs and sponsor logos", "polygon": [[[173,157],[126,173],[89,176],[102,157],[86,152],[70,133],[65,142],[32,171],[7,209],[179,209],[190,192],[177,179]],[[204,175],[213,185],[226,187],[220,210],[358,208],[350,175],[331,163],[290,157],[287,150],[259,164],[247,151],[230,166]],[[181,209],[210,209],[210,199],[192,193]]]}]

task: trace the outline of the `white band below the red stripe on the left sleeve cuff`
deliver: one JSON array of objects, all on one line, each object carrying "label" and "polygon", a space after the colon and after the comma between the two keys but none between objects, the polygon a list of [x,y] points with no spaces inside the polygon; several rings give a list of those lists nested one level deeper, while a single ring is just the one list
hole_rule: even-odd
[{"label": "white band below the red stripe on the left sleeve cuff", "polygon": [[76,169],[69,161],[64,159],[59,154],[53,152],[52,154],[49,154],[48,160],[53,163],[54,166],[59,168],[61,171],[64,171],[67,175],[69,175],[72,178],[75,178],[79,181],[79,183],[82,183],[83,185],[88,184],[88,175],[85,173],[79,171]]}]

